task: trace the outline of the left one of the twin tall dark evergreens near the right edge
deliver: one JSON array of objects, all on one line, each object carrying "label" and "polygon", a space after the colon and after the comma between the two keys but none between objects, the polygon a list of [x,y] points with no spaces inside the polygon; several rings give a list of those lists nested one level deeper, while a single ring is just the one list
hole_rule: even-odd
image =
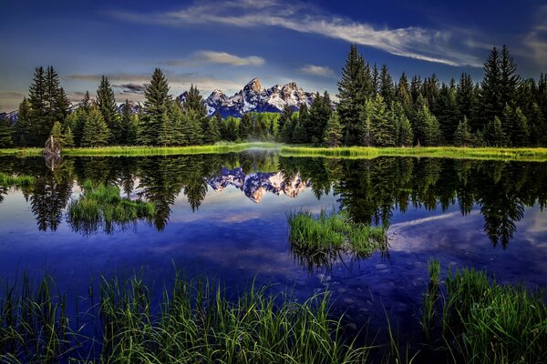
[{"label": "left one of the twin tall dark evergreens near the right edge", "polygon": [[501,71],[500,55],[494,47],[484,63],[484,77],[480,83],[480,119],[477,126],[481,128],[487,121],[493,121],[494,116],[501,116],[504,104],[501,103]]}]

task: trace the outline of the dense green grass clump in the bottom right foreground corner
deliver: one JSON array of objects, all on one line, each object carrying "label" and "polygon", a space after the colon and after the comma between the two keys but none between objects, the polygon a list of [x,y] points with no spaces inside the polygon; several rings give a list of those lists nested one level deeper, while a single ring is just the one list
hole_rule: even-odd
[{"label": "dense green grass clump in the bottom right foreground corner", "polygon": [[[438,271],[430,273],[433,282]],[[449,271],[440,305],[446,349],[457,362],[547,362],[545,299],[544,292],[490,282],[484,271]]]}]

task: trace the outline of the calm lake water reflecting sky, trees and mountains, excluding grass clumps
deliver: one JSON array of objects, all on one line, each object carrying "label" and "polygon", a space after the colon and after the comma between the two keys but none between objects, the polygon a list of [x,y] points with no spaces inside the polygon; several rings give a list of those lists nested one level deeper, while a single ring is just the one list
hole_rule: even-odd
[{"label": "calm lake water reflecting sky, trees and mountains, excluding grass clumps", "polygon": [[[85,297],[91,278],[143,267],[160,291],[173,266],[229,292],[273,284],[299,300],[329,288],[349,330],[389,318],[418,338],[429,258],[442,268],[486,268],[500,282],[547,286],[547,164],[382,157],[287,158],[266,152],[191,157],[0,157],[0,172],[36,185],[0,189],[0,277],[27,270]],[[86,179],[156,203],[152,221],[76,229],[66,207]],[[346,209],[388,224],[387,255],[318,266],[294,256],[286,213]]]}]

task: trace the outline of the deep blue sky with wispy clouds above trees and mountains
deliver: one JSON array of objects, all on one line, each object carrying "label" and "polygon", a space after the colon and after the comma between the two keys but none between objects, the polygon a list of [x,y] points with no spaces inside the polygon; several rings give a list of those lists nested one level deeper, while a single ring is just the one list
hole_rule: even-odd
[{"label": "deep blue sky with wispy clouds above trees and mountains", "polygon": [[523,77],[547,73],[547,2],[520,0],[0,0],[0,112],[27,95],[36,66],[54,66],[73,102],[108,76],[117,100],[142,101],[160,67],[179,95],[232,96],[253,77],[335,96],[349,46],[397,81],[482,78],[508,45]]}]

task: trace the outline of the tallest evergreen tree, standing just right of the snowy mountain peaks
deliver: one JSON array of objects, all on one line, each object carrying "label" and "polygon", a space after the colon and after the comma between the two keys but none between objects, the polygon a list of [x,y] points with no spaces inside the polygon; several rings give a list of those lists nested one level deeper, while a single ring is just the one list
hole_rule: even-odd
[{"label": "tallest evergreen tree, standing just right of the snowy mountain peaks", "polygon": [[351,45],[342,69],[342,78],[338,81],[340,101],[336,107],[347,145],[356,145],[363,139],[359,133],[359,114],[365,105],[366,96],[365,61],[357,53],[356,45]]}]

